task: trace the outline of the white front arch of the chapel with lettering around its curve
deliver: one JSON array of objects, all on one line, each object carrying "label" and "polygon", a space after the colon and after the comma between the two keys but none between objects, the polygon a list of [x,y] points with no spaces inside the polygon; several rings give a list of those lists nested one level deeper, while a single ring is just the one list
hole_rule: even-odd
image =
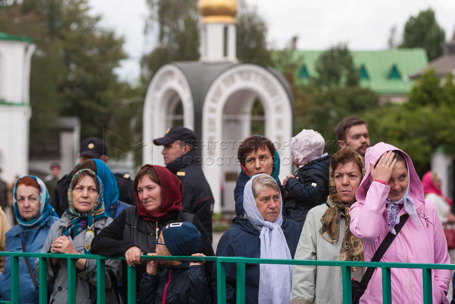
[{"label": "white front arch of the chapel with lettering around its curve", "polygon": [[[291,151],[286,142],[292,137],[292,106],[288,94],[278,79],[266,69],[250,64],[235,66],[219,75],[210,86],[204,99],[202,110],[202,141],[207,146],[202,149],[202,170],[212,189],[215,198],[214,212],[221,209],[221,185],[224,181],[223,172],[226,172],[227,159],[220,147],[224,137],[233,137],[238,141],[243,140],[248,133],[237,132],[227,136],[223,130],[225,120],[222,119],[226,103],[231,96],[239,91],[250,91],[261,100],[265,113],[265,136],[270,138],[278,149],[281,158],[280,180],[291,174],[293,167]],[[241,103],[240,103],[241,104]],[[239,106],[237,114],[245,114],[244,108]],[[251,111],[251,110],[250,110]],[[227,113],[226,113],[227,114]],[[230,113],[232,114],[232,113]],[[243,129],[245,131],[245,129]],[[248,130],[251,132],[251,130]],[[237,155],[237,150],[231,152]],[[229,171],[240,172],[240,166],[232,163]],[[233,199],[233,196],[231,196]]]}]

